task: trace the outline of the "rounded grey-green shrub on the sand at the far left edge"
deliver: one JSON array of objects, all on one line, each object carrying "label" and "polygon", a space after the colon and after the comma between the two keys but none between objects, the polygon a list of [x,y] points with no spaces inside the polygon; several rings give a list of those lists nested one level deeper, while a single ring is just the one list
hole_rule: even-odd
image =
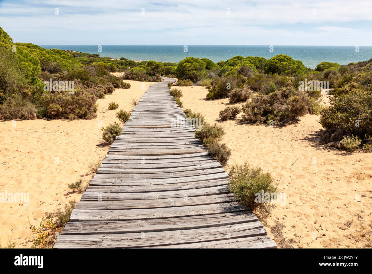
[{"label": "rounded grey-green shrub on the sand at the far left edge", "polygon": [[4,120],[35,120],[35,105],[20,94],[12,94],[0,105],[0,114]]}]

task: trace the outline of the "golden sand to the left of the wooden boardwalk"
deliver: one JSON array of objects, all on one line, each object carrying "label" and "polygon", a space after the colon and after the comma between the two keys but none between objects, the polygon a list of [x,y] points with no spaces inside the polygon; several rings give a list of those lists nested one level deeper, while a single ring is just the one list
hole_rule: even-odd
[{"label": "golden sand to the left of the wooden boardwalk", "polygon": [[[64,211],[68,201],[79,201],[70,183],[82,179],[87,185],[93,174],[89,165],[102,161],[109,146],[102,144],[101,128],[119,122],[119,109],[132,110],[131,98],[140,98],[151,82],[128,81],[129,89],[116,89],[99,99],[93,120],[17,120],[0,121],[0,193],[29,193],[29,205],[4,203],[0,207],[0,242],[10,239],[17,248],[32,246],[32,225],[38,226],[47,212]],[[142,86],[141,86],[142,85]],[[141,87],[143,89],[141,89]],[[117,110],[108,110],[115,101]],[[14,124],[13,124],[14,125]],[[90,173],[90,174],[89,174]]]}]

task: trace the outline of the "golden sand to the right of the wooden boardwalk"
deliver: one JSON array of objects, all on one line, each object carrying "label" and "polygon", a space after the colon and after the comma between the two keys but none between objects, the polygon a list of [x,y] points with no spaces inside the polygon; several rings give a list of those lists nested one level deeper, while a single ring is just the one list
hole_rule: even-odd
[{"label": "golden sand to the right of the wooden boardwalk", "polygon": [[[277,204],[267,218],[261,218],[279,247],[359,248],[371,244],[371,153],[320,147],[316,135],[322,128],[319,116],[307,114],[299,123],[281,128],[248,125],[241,114],[236,120],[222,122],[219,111],[233,105],[227,99],[205,100],[207,91],[201,86],[177,88],[183,92],[183,108],[201,111],[209,123],[225,127],[222,142],[232,149],[230,166],[248,161],[263,167],[272,174],[279,191],[286,193],[285,205]],[[324,98],[325,105],[328,101]]]}]

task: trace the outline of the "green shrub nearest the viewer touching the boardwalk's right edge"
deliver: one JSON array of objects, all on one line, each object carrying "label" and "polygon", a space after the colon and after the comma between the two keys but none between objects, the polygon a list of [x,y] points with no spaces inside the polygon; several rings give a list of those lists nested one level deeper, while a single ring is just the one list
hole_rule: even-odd
[{"label": "green shrub nearest the viewer touching the boardwalk's right edge", "polygon": [[251,210],[270,207],[272,204],[256,201],[256,193],[277,193],[278,189],[270,173],[264,172],[260,167],[251,167],[247,163],[235,165],[230,169],[230,183],[228,188],[235,193],[237,200]]}]

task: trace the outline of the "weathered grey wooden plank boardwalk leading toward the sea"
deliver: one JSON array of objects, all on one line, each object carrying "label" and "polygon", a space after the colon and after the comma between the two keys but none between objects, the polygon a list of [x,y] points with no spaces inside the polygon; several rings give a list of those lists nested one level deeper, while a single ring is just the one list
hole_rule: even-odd
[{"label": "weathered grey wooden plank boardwalk leading toward the sea", "polygon": [[195,127],[174,126],[169,82],[147,89],[54,248],[276,248]]}]

